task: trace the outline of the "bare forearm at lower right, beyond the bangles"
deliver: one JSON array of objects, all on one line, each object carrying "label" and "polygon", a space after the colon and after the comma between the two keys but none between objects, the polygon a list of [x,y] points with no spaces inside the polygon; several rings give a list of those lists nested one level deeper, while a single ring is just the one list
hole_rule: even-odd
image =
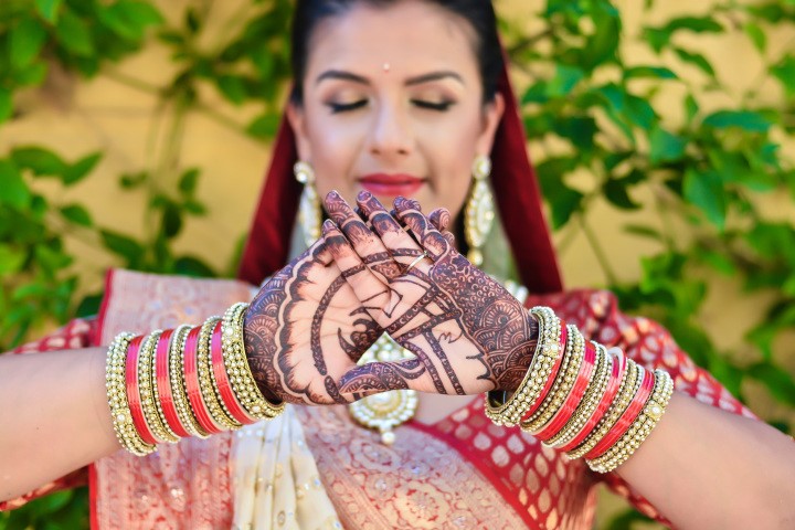
[{"label": "bare forearm at lower right, beyond the bangles", "polygon": [[677,528],[795,526],[795,443],[685,394],[617,473]]}]

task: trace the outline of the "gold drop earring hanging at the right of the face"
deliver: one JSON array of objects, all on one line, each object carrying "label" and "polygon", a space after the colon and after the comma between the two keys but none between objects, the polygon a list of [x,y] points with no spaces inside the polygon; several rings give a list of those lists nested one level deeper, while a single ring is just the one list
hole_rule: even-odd
[{"label": "gold drop earring hanging at the right of the face", "polygon": [[473,162],[473,187],[464,209],[464,235],[466,236],[469,252],[467,259],[474,265],[483,265],[481,247],[494,224],[494,197],[488,187],[488,176],[491,173],[491,159],[485,155],[478,155]]}]

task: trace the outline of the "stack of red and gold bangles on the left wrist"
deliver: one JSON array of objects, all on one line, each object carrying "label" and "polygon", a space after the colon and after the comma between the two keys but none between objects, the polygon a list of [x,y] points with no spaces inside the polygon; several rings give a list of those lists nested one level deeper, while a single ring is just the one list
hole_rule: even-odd
[{"label": "stack of red and gold bangles on the left wrist", "polygon": [[223,318],[194,328],[116,336],[108,348],[106,386],[124,448],[142,456],[160,443],[206,437],[284,411],[284,403],[265,399],[248,368],[243,347],[247,307],[235,304]]}]

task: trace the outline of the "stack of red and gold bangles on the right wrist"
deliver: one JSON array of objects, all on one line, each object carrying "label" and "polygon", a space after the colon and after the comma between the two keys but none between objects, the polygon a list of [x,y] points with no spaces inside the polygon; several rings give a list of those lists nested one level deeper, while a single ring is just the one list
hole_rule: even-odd
[{"label": "stack of red and gold bangles on the right wrist", "polygon": [[497,425],[519,425],[594,471],[621,466],[648,437],[674,393],[665,370],[644,369],[534,307],[539,338],[530,368],[511,395],[488,393],[486,415]]}]

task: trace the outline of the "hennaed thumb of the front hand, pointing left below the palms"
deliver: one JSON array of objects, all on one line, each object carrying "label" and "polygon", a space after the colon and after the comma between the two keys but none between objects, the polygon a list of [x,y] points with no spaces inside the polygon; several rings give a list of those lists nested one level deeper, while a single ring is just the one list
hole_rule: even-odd
[{"label": "hennaed thumb of the front hand, pointing left below the palms", "polygon": [[369,362],[349,370],[339,380],[339,391],[354,400],[390,390],[437,392],[427,370],[418,359]]}]

